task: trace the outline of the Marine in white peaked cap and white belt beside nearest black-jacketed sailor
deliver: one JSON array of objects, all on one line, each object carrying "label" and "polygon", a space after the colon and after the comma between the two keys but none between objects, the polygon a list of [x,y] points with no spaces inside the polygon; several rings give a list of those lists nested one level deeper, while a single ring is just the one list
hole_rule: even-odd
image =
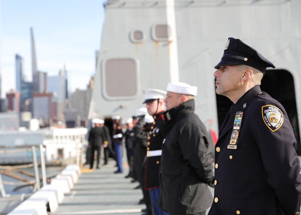
[{"label": "Marine in white peaked cap and white belt beside nearest black-jacketed sailor", "polygon": [[150,192],[154,214],[168,214],[157,206],[160,194],[159,165],[162,154],[161,149],[165,125],[163,112],[166,92],[159,89],[144,89],[142,92],[144,93],[143,103],[146,104],[147,112],[154,118],[151,132],[147,137],[148,147],[144,188],[148,189]]}]

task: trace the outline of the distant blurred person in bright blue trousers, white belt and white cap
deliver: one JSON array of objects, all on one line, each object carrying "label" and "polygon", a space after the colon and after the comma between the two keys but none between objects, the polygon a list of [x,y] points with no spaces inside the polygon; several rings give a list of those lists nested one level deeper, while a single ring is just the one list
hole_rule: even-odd
[{"label": "distant blurred person in bright blue trousers, white belt and white cap", "polygon": [[116,162],[118,169],[114,173],[123,173],[123,163],[122,163],[122,139],[123,131],[120,125],[120,116],[112,116],[113,120],[113,140],[114,149],[116,155]]}]

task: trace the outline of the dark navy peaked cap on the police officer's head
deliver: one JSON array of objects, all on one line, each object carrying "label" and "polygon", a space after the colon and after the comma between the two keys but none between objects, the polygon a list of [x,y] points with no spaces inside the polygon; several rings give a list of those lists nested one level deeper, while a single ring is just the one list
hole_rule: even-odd
[{"label": "dark navy peaked cap on the police officer's head", "polygon": [[263,74],[267,67],[275,68],[274,64],[263,57],[258,51],[248,46],[240,39],[228,38],[225,46],[224,55],[221,61],[214,67],[218,69],[220,66],[245,64],[258,69]]}]

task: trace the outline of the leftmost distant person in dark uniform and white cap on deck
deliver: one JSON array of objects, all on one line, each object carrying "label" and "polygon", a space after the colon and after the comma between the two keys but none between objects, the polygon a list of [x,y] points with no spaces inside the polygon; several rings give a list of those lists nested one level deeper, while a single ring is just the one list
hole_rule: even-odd
[{"label": "leftmost distant person in dark uniform and white cap on deck", "polygon": [[104,124],[104,120],[101,119],[93,119],[92,123],[95,124],[95,127],[92,127],[89,132],[88,147],[91,148],[91,156],[90,156],[90,169],[93,169],[94,164],[94,153],[97,151],[97,164],[96,168],[99,169],[99,160],[101,153],[101,145],[104,141],[103,130],[101,129],[101,124]]}]

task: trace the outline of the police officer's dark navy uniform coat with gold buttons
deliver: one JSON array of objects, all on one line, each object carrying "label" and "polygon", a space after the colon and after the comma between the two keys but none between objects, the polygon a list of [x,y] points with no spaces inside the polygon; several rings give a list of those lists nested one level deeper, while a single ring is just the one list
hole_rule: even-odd
[{"label": "police officer's dark navy uniform coat with gold buttons", "polygon": [[[228,145],[232,136],[236,138],[232,130],[237,111],[243,111],[243,117],[237,149],[231,149]],[[275,123],[268,120],[273,116]],[[259,86],[246,92],[219,132],[215,201],[209,215],[237,211],[252,215],[298,214],[301,176],[294,145],[296,139],[283,106],[261,92]]]}]

